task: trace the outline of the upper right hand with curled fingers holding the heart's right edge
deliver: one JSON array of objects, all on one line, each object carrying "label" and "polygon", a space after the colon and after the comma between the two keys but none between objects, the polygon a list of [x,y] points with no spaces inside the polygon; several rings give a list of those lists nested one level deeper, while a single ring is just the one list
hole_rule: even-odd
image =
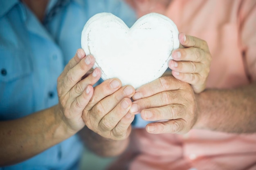
[{"label": "upper right hand with curled fingers holding the heart's right edge", "polygon": [[200,93],[205,89],[212,60],[207,42],[184,33],[180,33],[179,40],[185,48],[173,51],[168,66],[175,78],[191,84],[195,93]]}]

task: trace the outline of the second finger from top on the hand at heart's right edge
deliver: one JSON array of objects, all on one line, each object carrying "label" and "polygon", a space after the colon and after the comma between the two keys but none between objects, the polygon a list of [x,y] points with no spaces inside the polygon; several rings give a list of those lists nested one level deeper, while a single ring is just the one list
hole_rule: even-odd
[{"label": "second finger from top on the hand at heart's right edge", "polygon": [[173,51],[172,57],[175,61],[201,62],[205,60],[207,53],[199,48],[189,47]]}]

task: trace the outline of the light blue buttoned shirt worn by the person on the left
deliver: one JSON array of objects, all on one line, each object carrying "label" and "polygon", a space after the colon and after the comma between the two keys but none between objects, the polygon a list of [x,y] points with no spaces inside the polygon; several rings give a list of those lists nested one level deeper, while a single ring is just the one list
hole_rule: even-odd
[{"label": "light blue buttoned shirt worn by the person on the left", "polygon": [[[54,6],[51,0],[47,11]],[[136,20],[121,0],[70,0],[46,25],[20,0],[0,0],[0,120],[24,117],[58,103],[57,77],[81,48],[85,22],[111,12],[128,26]],[[75,169],[81,157],[78,136],[0,170]],[[76,167],[77,168],[77,167]]]}]

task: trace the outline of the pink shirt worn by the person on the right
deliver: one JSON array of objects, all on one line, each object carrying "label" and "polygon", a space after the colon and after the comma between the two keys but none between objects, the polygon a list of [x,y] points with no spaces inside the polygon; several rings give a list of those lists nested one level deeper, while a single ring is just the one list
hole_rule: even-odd
[{"label": "pink shirt worn by the person on the right", "polygon": [[[165,12],[158,2],[166,0],[134,1],[138,16],[162,13],[180,32],[207,41],[213,57],[207,88],[233,88],[256,81],[256,0],[173,0]],[[256,170],[256,134],[134,132],[140,153],[129,170]]]}]

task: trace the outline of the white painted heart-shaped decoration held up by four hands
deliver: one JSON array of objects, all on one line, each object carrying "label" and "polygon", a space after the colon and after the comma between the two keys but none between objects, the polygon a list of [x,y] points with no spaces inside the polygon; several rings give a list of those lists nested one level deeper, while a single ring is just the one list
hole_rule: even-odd
[{"label": "white painted heart-shaped decoration held up by four hands", "polygon": [[130,29],[117,16],[98,13],[86,22],[81,46],[95,57],[102,79],[119,78],[138,88],[166,71],[180,45],[178,34],[173,21],[158,13],[142,16]]}]

